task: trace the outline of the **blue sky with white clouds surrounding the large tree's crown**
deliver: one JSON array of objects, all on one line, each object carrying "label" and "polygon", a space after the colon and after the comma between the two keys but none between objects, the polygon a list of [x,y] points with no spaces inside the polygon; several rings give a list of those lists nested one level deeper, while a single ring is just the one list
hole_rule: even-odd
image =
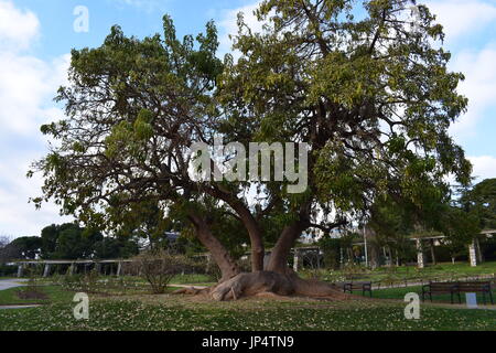
[{"label": "blue sky with white clouds surrounding the large tree's crown", "polygon": [[[471,101],[468,113],[451,132],[474,163],[479,179],[496,178],[496,1],[424,0],[445,26],[451,68],[463,72],[460,92]],[[46,152],[39,132],[45,121],[62,116],[52,98],[64,84],[73,47],[97,46],[112,24],[137,36],[161,32],[170,13],[180,35],[196,34],[215,20],[220,51],[229,49],[236,13],[246,13],[255,28],[255,0],[0,0],[0,236],[39,235],[43,226],[69,218],[48,204],[28,204],[39,194],[41,178],[26,180],[30,163]],[[74,9],[89,13],[89,31],[77,33]]]}]

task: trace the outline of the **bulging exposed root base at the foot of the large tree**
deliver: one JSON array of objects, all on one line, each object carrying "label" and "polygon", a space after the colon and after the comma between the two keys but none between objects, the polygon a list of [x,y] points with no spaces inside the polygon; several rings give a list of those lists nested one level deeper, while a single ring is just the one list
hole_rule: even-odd
[{"label": "bulging exposed root base at the foot of the large tree", "polygon": [[237,300],[252,296],[300,296],[334,300],[347,300],[353,297],[343,293],[335,286],[315,280],[305,280],[292,271],[285,275],[273,271],[239,274],[215,287],[205,289],[183,288],[174,293],[204,295],[217,301]]}]

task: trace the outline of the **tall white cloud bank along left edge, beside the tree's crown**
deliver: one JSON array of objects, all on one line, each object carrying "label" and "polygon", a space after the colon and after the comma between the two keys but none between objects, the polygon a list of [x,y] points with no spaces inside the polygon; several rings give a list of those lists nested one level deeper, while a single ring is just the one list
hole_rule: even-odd
[{"label": "tall white cloud bank along left edge, beside the tree's crown", "polygon": [[25,178],[30,163],[46,151],[40,125],[62,117],[52,98],[69,62],[69,55],[46,62],[29,54],[40,30],[33,12],[0,0],[0,234],[14,237],[40,234],[64,220],[53,204],[37,212],[28,204],[42,183],[39,175]]}]

